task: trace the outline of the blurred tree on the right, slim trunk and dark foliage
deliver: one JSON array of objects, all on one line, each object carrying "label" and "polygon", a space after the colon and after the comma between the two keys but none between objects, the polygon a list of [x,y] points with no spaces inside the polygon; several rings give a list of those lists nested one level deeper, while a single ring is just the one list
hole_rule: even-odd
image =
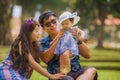
[{"label": "blurred tree on the right, slim trunk and dark foliage", "polygon": [[[98,48],[103,48],[104,20],[108,14],[120,17],[119,0],[77,0],[73,10],[77,10],[81,17],[81,24],[95,25],[98,30]],[[100,20],[100,24],[96,23]]]}]

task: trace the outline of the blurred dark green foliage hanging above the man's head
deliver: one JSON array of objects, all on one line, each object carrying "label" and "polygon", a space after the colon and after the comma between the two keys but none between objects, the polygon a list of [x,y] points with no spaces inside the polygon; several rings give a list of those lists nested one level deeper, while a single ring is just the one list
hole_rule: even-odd
[{"label": "blurred dark green foliage hanging above the man's head", "polygon": [[69,6],[65,0],[18,0],[17,4],[23,7],[23,14],[30,12],[30,15],[36,10],[40,12],[51,10],[59,14]]}]

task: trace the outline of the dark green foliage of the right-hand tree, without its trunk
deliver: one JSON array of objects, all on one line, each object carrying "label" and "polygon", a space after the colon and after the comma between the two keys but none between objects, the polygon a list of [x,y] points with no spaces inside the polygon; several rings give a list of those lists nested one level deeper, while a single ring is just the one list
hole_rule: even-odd
[{"label": "dark green foliage of the right-hand tree, without its trunk", "polygon": [[104,20],[107,14],[113,14],[116,17],[120,17],[119,4],[119,0],[76,0],[76,3],[72,6],[72,10],[78,11],[81,17],[81,25],[86,25],[86,23],[89,25],[95,24],[94,20],[96,17],[103,17]]}]

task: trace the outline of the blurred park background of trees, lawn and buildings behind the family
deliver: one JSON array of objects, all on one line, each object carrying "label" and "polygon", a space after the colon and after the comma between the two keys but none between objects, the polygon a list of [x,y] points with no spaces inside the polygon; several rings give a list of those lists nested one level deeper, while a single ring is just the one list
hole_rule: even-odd
[{"label": "blurred park background of trees, lawn and buildings behind the family", "polygon": [[[0,62],[19,33],[22,20],[38,21],[44,11],[57,16],[64,12],[78,12],[80,29],[86,33],[85,42],[91,59],[81,57],[81,65],[94,66],[98,80],[120,80],[120,0],[0,0]],[[41,29],[41,38],[46,33]],[[46,64],[40,63],[45,69]],[[33,73],[31,80],[47,80]]]}]

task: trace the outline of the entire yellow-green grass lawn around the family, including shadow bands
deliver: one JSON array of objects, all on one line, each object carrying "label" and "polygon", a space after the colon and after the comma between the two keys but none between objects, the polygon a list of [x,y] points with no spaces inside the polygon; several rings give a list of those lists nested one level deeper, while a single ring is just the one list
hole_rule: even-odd
[{"label": "entire yellow-green grass lawn around the family, including shadow bands", "polygon": [[[5,58],[9,47],[0,47],[0,62]],[[82,66],[94,66],[97,68],[98,80],[120,80],[120,51],[91,49],[91,59],[81,57]],[[46,70],[46,64],[40,63]],[[30,80],[48,80],[34,71]]]}]

